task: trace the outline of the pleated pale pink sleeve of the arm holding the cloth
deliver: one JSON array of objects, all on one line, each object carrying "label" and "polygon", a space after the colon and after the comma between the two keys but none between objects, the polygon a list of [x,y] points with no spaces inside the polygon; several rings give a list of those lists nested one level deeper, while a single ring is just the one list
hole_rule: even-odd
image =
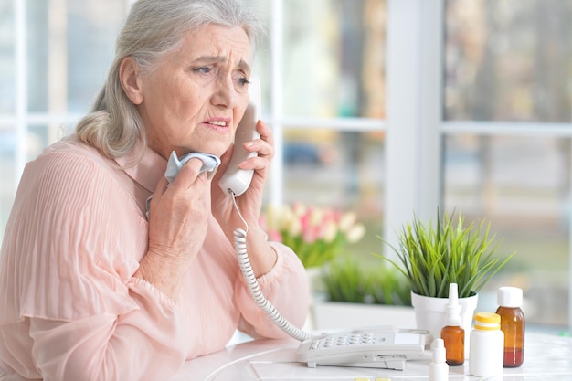
[{"label": "pleated pale pink sleeve of the arm holding the cloth", "polygon": [[[26,166],[3,242],[0,328],[29,320],[47,381],[167,379],[184,364],[188,324],[132,278],[147,222],[120,169],[97,157],[48,152]],[[26,349],[5,363],[24,363]]]}]

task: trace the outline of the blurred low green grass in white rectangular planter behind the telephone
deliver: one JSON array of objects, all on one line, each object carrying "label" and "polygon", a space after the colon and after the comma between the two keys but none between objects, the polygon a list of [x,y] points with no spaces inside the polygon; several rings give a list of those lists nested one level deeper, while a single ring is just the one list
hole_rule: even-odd
[{"label": "blurred low green grass in white rectangular planter behind the telephone", "polygon": [[323,268],[322,280],[324,291],[311,309],[313,329],[415,327],[408,284],[393,267],[342,255]]}]

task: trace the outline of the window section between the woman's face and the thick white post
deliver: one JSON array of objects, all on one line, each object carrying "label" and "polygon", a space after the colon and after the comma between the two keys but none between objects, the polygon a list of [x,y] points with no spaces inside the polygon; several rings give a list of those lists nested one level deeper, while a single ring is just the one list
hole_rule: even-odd
[{"label": "window section between the woman's face and the thick white post", "polygon": [[383,220],[386,2],[272,2],[261,55],[264,109],[277,144],[270,202],[355,210],[379,261]]}]

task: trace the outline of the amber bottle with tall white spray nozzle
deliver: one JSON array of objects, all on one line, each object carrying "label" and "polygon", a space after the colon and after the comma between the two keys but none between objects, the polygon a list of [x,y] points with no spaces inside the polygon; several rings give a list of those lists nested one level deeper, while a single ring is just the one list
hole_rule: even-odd
[{"label": "amber bottle with tall white spray nozzle", "polygon": [[465,362],[465,330],[461,327],[457,283],[449,285],[449,302],[445,306],[445,326],[441,329],[441,339],[445,344],[447,365],[462,365]]}]

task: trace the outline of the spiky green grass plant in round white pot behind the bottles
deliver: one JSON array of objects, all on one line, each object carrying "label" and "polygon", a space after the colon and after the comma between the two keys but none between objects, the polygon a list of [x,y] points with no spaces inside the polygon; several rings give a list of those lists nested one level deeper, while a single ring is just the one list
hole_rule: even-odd
[{"label": "spiky green grass plant in round white pot behind the bottles", "polygon": [[499,243],[489,236],[491,223],[482,220],[464,225],[464,217],[437,211],[434,226],[414,216],[398,234],[398,247],[382,240],[397,254],[392,263],[408,280],[418,328],[440,335],[449,284],[457,283],[461,303],[461,324],[471,329],[478,294],[488,280],[514,256],[494,257]]}]

